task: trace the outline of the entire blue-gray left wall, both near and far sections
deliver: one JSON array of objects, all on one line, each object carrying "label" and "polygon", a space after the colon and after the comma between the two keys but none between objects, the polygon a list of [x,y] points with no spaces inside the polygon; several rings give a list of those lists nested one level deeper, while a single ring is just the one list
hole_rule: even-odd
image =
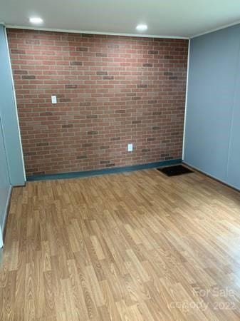
[{"label": "entire blue-gray left wall, both near and far sections", "polygon": [[24,185],[19,123],[4,26],[0,25],[0,248],[11,186]]}]

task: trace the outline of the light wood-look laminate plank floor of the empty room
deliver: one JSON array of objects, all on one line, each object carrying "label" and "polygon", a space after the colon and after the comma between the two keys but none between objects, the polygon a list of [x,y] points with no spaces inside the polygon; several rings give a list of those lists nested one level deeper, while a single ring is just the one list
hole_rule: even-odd
[{"label": "light wood-look laminate plank floor of the empty room", "polygon": [[0,320],[240,320],[240,193],[157,170],[14,188]]}]

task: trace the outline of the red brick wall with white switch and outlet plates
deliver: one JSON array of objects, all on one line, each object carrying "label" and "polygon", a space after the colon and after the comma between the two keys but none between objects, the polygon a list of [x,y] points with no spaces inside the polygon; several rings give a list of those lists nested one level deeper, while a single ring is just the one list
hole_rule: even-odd
[{"label": "red brick wall with white switch and outlet plates", "polygon": [[182,157],[187,40],[8,37],[28,175]]}]

